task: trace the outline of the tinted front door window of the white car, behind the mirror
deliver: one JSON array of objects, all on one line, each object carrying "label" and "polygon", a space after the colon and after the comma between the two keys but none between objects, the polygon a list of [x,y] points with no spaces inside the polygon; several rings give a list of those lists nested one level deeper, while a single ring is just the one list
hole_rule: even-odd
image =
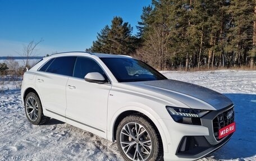
[{"label": "tinted front door window of the white car, behind the mirror", "polygon": [[104,76],[102,68],[93,59],[77,57],[74,77],[84,79],[84,76],[89,72],[99,72]]}]

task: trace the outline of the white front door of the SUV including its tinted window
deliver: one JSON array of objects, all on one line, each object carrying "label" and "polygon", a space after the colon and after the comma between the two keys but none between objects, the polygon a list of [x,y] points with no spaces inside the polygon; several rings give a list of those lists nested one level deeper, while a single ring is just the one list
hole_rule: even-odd
[{"label": "white front door of the SUV including its tinted window", "polygon": [[111,84],[86,82],[84,77],[89,72],[99,72],[107,79],[94,59],[77,57],[74,75],[68,79],[66,86],[66,120],[71,125],[106,137],[107,103]]}]

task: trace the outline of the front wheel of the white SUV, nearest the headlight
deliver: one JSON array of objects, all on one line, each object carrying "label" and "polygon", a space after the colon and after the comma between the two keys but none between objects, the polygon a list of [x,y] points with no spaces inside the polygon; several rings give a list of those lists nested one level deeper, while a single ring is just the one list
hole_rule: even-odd
[{"label": "front wheel of the white SUV, nearest the headlight", "polygon": [[147,119],[127,116],[117,127],[117,147],[125,160],[160,160],[159,136]]}]

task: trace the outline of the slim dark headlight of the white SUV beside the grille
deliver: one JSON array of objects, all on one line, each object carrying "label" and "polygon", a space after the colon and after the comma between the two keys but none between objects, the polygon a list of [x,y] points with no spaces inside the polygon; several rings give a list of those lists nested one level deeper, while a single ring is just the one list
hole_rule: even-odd
[{"label": "slim dark headlight of the white SUV beside the grille", "polygon": [[209,111],[203,109],[179,108],[179,107],[166,107],[174,121],[190,125],[202,125],[201,117]]}]

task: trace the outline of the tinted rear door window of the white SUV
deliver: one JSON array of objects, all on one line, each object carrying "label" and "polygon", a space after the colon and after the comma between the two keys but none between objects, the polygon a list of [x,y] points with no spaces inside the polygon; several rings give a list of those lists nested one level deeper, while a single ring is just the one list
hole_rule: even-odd
[{"label": "tinted rear door window of the white SUV", "polygon": [[[59,57],[55,58],[46,72],[60,75],[72,76],[76,57]],[[46,65],[46,64],[45,64]]]}]

